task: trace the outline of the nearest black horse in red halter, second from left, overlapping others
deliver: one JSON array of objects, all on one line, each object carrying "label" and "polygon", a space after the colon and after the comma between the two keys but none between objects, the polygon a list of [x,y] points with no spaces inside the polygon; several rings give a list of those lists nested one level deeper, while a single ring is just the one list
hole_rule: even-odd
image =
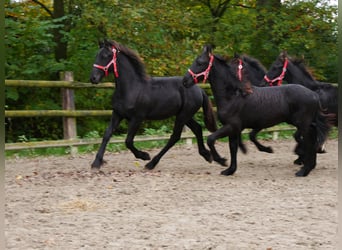
[{"label": "nearest black horse in red halter, second from left, overlapping others", "polygon": [[315,92],[301,85],[252,86],[243,69],[242,78],[238,79],[226,60],[212,53],[211,46],[205,46],[202,54],[195,59],[184,76],[183,84],[191,87],[203,75],[208,75],[218,118],[223,125],[207,139],[215,161],[222,159],[214,148],[215,141],[229,137],[231,164],[221,174],[232,175],[237,169],[237,149],[243,129],[267,128],[280,122],[294,125],[302,135],[303,140],[298,143],[304,150],[304,165],[296,176],[307,176],[315,168],[316,144],[324,140],[329,130]]}]

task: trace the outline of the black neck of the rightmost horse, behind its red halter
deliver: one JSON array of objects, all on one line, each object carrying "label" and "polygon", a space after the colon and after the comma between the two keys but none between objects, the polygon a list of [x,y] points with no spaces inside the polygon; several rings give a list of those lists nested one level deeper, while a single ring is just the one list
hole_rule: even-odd
[{"label": "black neck of the rightmost horse, behind its red halter", "polygon": [[309,89],[314,89],[317,83],[308,74],[309,73],[307,72],[303,72],[303,69],[301,69],[299,66],[289,62],[284,80],[290,84],[300,84]]}]

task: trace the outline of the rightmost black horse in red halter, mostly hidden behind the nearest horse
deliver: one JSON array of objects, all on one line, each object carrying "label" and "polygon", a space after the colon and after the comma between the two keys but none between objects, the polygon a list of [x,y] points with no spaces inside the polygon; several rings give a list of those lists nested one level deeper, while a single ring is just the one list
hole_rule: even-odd
[{"label": "rightmost black horse in red halter, mostly hidden behind the nearest horse", "polygon": [[288,84],[300,84],[315,91],[326,113],[334,114],[334,126],[338,126],[338,88],[330,83],[314,79],[302,59],[292,59],[286,51],[280,53],[264,78],[270,85],[279,85],[284,80]]}]

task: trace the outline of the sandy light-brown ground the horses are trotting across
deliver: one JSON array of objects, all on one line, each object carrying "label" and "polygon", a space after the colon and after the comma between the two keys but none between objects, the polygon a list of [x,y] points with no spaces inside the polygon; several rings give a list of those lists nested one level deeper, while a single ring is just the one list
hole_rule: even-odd
[{"label": "sandy light-brown ground the horses are trotting across", "polygon": [[275,153],[247,143],[230,177],[194,145],[153,171],[130,152],[97,173],[94,154],[7,160],[6,249],[337,249],[337,140],[305,178],[292,140],[264,143]]}]

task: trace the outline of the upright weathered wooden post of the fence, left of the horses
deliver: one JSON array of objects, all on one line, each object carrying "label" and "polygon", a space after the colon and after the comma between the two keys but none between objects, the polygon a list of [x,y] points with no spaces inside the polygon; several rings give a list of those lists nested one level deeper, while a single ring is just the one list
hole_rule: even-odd
[{"label": "upright weathered wooden post of the fence, left of the horses", "polygon": [[[65,71],[60,73],[62,81],[74,81],[74,74],[71,71]],[[62,107],[64,110],[75,110],[74,102],[74,90],[68,88],[62,88]],[[64,139],[77,138],[77,127],[75,117],[63,117],[63,135]],[[77,147],[70,147],[70,153],[72,156],[77,154]]]}]

